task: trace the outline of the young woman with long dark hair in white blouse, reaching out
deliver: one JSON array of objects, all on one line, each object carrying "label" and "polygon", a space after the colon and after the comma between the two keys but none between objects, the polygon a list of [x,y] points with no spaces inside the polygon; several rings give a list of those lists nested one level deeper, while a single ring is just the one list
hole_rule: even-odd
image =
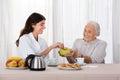
[{"label": "young woman with long dark hair in white blouse, reaching out", "polygon": [[64,48],[64,45],[57,42],[48,47],[46,41],[40,37],[45,27],[45,17],[39,13],[31,14],[24,29],[16,41],[19,55],[26,58],[29,54],[36,54],[46,57],[53,48]]}]

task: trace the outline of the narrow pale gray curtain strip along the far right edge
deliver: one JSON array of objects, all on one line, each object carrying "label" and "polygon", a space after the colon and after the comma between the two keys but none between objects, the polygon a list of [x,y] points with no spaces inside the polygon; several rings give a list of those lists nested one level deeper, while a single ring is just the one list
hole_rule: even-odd
[{"label": "narrow pale gray curtain strip along the far right edge", "polygon": [[120,0],[113,0],[113,59],[120,63]]}]

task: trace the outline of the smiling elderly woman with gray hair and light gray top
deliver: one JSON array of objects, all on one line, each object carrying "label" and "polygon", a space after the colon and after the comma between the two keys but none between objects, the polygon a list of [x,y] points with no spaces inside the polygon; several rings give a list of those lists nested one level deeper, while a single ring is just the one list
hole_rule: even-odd
[{"label": "smiling elderly woman with gray hair and light gray top", "polygon": [[83,38],[76,39],[73,44],[73,51],[67,55],[70,63],[75,62],[75,58],[83,57],[86,63],[104,63],[106,55],[106,42],[97,39],[100,35],[100,26],[97,22],[90,21],[84,28]]}]

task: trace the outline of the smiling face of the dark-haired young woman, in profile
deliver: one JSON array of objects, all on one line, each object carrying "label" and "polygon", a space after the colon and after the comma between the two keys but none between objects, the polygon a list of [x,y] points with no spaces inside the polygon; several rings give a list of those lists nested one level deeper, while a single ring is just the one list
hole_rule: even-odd
[{"label": "smiling face of the dark-haired young woman, in profile", "polygon": [[33,32],[35,32],[37,34],[42,34],[43,30],[46,28],[45,27],[45,20],[38,22],[36,25],[32,25],[32,27],[34,28]]}]

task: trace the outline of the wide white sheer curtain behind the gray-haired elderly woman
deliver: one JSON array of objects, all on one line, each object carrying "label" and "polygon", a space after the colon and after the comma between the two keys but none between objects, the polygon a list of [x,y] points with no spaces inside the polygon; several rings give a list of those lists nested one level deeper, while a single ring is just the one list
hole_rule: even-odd
[{"label": "wide white sheer curtain behind the gray-haired elderly woman", "polygon": [[98,38],[107,42],[105,62],[113,62],[112,0],[54,0],[53,4],[54,27],[59,29],[55,40],[62,35],[65,46],[71,48],[75,39],[83,37],[85,24],[96,21],[101,27]]}]

